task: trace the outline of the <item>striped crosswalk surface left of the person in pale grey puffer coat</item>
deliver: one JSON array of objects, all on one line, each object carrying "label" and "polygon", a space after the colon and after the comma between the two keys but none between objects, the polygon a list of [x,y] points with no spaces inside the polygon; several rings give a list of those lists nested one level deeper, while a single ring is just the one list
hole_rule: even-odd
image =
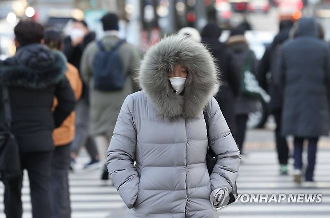
[{"label": "striped crosswalk surface left of the person in pale grey puffer coat", "polygon": [[[79,163],[86,163],[86,158],[79,158]],[[70,193],[72,218],[107,218],[117,217],[116,211],[124,211],[125,204],[111,182],[100,180],[100,172],[76,170],[70,173]],[[3,213],[4,186],[0,185],[0,218]],[[32,218],[30,204],[29,180],[24,177],[22,189],[23,218]]]}]

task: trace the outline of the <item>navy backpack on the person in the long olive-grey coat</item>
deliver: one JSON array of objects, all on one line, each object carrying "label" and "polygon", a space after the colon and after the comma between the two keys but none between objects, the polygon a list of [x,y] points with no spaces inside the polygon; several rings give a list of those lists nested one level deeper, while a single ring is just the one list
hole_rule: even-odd
[{"label": "navy backpack on the person in the long olive-grey coat", "polygon": [[118,91],[125,85],[125,74],[118,48],[125,40],[120,40],[110,51],[105,50],[101,41],[97,42],[99,51],[93,60],[94,89],[99,91]]}]

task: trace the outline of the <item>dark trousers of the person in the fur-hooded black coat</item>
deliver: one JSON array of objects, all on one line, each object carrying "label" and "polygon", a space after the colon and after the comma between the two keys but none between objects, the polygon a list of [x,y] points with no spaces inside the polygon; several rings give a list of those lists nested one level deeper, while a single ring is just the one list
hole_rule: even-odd
[{"label": "dark trousers of the person in the fur-hooded black coat", "polygon": [[[30,181],[30,197],[33,218],[51,218],[49,182],[51,177],[52,151],[21,153],[22,170],[26,169]],[[21,218],[22,176],[5,182],[4,206],[7,218]]]}]

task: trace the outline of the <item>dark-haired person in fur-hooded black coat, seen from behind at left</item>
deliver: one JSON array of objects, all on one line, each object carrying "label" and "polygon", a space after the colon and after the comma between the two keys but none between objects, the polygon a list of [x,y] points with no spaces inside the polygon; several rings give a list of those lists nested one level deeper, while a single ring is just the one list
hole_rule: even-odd
[{"label": "dark-haired person in fur-hooded black coat, seen from behind at left", "polygon": [[[41,44],[43,26],[21,20],[14,28],[16,54],[0,62],[1,86],[10,98],[11,131],[19,145],[22,175],[5,181],[4,211],[7,218],[22,217],[23,170],[29,175],[33,218],[51,218],[49,183],[54,150],[52,132],[74,110],[75,97],[65,77],[66,59]],[[0,90],[1,94],[2,90]],[[53,99],[57,106],[52,111]],[[4,102],[0,123],[4,124]]]}]

